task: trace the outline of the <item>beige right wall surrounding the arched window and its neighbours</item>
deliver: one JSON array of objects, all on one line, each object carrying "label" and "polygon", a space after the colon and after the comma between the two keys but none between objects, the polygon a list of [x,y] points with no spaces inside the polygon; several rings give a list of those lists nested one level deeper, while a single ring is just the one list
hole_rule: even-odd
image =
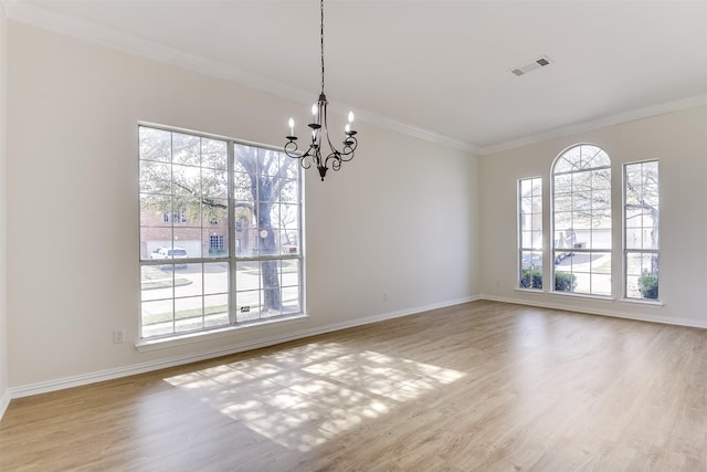
[{"label": "beige right wall surrounding the arched window and its neighbours", "polygon": [[[479,164],[481,283],[485,296],[567,310],[620,315],[707,327],[704,310],[704,272],[707,251],[707,107],[655,116],[573,136],[549,139],[521,148],[487,155]],[[542,176],[545,247],[550,244],[550,165],[564,148],[577,143],[602,147],[612,159],[614,300],[528,293],[517,286],[516,186],[526,177]],[[661,172],[661,289],[663,306],[622,301],[621,189],[624,162],[659,159]],[[500,229],[500,230],[499,230]],[[549,280],[548,262],[544,280]]]}]

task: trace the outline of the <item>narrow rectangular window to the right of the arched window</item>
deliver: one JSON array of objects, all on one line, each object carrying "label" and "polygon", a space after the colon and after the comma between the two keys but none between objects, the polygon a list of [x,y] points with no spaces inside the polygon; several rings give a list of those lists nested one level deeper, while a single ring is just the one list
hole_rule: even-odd
[{"label": "narrow rectangular window to the right of the arched window", "polygon": [[624,165],[624,268],[627,298],[658,297],[658,162]]}]

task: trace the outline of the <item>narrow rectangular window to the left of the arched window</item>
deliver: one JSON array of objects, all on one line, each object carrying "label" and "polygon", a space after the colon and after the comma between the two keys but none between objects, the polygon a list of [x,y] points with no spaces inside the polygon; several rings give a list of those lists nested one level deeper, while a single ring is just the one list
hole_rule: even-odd
[{"label": "narrow rectangular window to the left of the arched window", "polygon": [[542,179],[518,181],[518,285],[542,289]]}]

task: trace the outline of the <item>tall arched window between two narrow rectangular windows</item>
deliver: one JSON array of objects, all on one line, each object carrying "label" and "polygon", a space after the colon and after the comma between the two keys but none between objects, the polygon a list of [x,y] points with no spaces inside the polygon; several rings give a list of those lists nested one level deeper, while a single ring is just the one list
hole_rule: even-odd
[{"label": "tall arched window between two narrow rectangular windows", "polygon": [[611,295],[611,159],[593,145],[552,164],[555,291]]}]

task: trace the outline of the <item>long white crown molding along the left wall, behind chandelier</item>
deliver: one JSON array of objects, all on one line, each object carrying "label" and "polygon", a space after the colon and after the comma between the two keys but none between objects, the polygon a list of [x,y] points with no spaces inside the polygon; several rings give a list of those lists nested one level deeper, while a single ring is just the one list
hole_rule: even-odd
[{"label": "long white crown molding along the left wall, behind chandelier", "polygon": [[[116,51],[120,51],[131,55],[139,55],[152,61],[176,65],[181,69],[198,72],[200,74],[212,77],[223,78],[238,83],[249,88],[277,95],[283,98],[300,102],[309,105],[312,103],[312,94],[294,88],[282,82],[273,81],[243,71],[238,67],[226,65],[221,62],[208,60],[196,54],[191,54],[175,48],[145,40],[143,38],[127,34],[122,31],[91,23],[75,18],[55,13],[43,8],[29,4],[22,0],[0,0],[4,6],[8,18],[12,21],[30,24],[43,30],[53,31],[55,33],[72,36],[82,41],[98,44]],[[356,112],[358,119],[370,123],[372,125],[402,133],[412,137],[432,141],[445,147],[460,149],[469,154],[476,154],[476,146],[443,136],[426,129],[398,122],[388,116],[378,115],[365,109],[356,109],[346,104],[330,106],[336,113],[348,113],[349,109]]]}]

